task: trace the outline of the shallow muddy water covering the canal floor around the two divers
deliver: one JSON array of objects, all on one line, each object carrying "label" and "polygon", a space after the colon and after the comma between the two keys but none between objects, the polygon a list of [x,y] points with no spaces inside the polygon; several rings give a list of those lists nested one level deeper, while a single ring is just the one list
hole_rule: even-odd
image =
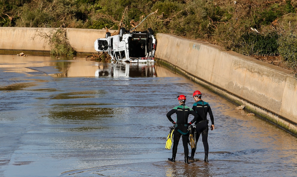
[{"label": "shallow muddy water covering the canal floor around the two divers", "polygon": [[[215,116],[209,163],[166,161],[176,96]],[[297,139],[160,65],[0,55],[0,176],[296,176]]]}]

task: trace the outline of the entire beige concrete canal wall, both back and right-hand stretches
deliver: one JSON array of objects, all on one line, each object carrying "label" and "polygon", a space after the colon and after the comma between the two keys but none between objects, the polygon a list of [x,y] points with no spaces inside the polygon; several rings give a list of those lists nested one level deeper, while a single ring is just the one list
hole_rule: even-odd
[{"label": "entire beige concrete canal wall, both back and right-hand stretches", "polygon": [[[50,51],[48,41],[38,35],[50,35],[51,30],[0,27],[0,50]],[[90,54],[96,53],[94,42],[106,32],[64,30],[76,51]],[[207,42],[167,34],[157,34],[156,38],[158,62],[297,135],[297,81],[290,71],[222,51]]]}]

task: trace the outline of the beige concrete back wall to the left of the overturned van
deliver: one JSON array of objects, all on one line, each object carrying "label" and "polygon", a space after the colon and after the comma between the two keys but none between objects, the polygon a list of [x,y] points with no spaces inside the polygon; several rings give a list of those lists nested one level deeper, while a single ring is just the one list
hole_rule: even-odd
[{"label": "beige concrete back wall to the left of the overturned van", "polygon": [[[96,53],[94,42],[104,38],[106,30],[63,28],[70,45],[80,53]],[[0,27],[0,50],[51,51],[49,42],[40,35],[51,35],[53,28]],[[114,30],[110,30],[114,32]]]}]

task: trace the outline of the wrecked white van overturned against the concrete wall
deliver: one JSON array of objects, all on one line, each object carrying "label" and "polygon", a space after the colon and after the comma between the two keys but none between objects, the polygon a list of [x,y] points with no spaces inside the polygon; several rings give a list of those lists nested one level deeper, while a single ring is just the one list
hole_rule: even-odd
[{"label": "wrecked white van overturned against the concrete wall", "polygon": [[110,36],[107,32],[105,38],[99,38],[94,43],[98,52],[108,52],[111,60],[128,62],[154,62],[156,39],[153,31],[126,31],[120,28],[118,35]]}]

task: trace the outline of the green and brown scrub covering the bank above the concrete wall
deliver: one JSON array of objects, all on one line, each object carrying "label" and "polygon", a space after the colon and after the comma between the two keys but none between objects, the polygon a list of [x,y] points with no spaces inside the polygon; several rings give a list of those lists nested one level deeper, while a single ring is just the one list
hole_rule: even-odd
[{"label": "green and brown scrub covering the bank above the concrete wall", "polygon": [[247,56],[278,56],[297,68],[297,2],[291,0],[10,0],[0,26],[152,28]]}]

